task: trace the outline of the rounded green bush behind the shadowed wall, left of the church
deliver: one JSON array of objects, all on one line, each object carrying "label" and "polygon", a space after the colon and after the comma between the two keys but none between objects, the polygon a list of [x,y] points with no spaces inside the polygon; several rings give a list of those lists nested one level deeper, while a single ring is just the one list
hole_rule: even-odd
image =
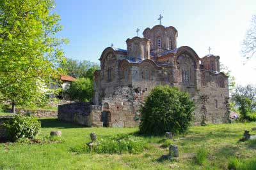
[{"label": "rounded green bush behind the shadowed wall, left of the church", "polygon": [[70,99],[77,101],[92,101],[93,82],[89,78],[77,78],[65,92]]}]

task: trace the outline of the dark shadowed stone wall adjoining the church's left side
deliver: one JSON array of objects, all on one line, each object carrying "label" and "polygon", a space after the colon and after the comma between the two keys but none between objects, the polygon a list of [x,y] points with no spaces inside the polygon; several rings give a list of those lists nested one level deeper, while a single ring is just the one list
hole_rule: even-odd
[{"label": "dark shadowed stone wall adjoining the church's left side", "polygon": [[[91,103],[70,103],[58,106],[58,119],[65,122],[92,126]],[[97,123],[95,123],[97,124]]]}]

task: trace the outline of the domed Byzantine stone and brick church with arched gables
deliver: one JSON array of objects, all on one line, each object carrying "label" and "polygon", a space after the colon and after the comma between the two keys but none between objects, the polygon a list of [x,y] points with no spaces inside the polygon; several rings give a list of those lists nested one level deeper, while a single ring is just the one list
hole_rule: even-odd
[{"label": "domed Byzantine stone and brick church with arched gables", "polygon": [[196,104],[195,124],[219,124],[228,118],[228,76],[220,72],[220,57],[198,57],[189,46],[177,47],[175,27],[155,25],[143,38],[126,40],[127,49],[106,48],[95,71],[92,125],[133,127],[140,106],[156,85],[188,92]]}]

